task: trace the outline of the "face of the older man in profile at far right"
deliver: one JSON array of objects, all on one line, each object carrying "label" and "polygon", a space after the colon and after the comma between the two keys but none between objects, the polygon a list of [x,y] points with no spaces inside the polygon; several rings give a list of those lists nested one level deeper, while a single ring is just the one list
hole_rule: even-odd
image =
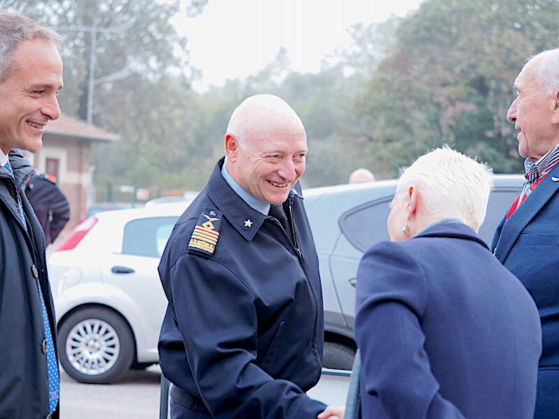
[{"label": "face of the older man in profile at far right", "polygon": [[557,98],[544,94],[537,79],[543,57],[536,57],[524,66],[514,81],[516,98],[507,112],[507,121],[520,131],[518,154],[536,161],[558,144],[556,118]]}]

